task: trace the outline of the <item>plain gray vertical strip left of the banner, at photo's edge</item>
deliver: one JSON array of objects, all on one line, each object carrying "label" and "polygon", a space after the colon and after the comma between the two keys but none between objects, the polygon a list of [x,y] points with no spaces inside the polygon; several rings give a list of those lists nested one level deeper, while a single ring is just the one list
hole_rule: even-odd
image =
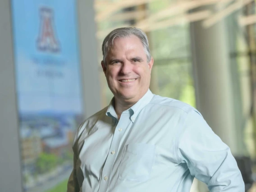
[{"label": "plain gray vertical strip left of the banner, at photo's edge", "polygon": [[10,5],[0,1],[0,191],[22,192]]}]

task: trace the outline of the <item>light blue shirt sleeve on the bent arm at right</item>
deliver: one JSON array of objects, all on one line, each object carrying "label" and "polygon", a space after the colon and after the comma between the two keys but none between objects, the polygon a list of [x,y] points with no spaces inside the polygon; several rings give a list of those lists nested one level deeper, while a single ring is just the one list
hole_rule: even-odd
[{"label": "light blue shirt sleeve on the bent arm at right", "polygon": [[229,147],[195,110],[187,114],[178,141],[179,162],[210,192],[244,192],[242,174]]}]

